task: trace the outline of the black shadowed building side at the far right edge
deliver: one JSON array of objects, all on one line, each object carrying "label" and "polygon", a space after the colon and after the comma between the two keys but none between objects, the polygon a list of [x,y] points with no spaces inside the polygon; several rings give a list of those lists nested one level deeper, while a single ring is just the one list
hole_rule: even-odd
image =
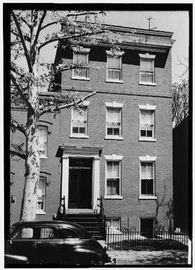
[{"label": "black shadowed building side at the far right edge", "polygon": [[[189,229],[189,119],[173,129],[174,225]],[[182,198],[182,199],[181,199]]]}]

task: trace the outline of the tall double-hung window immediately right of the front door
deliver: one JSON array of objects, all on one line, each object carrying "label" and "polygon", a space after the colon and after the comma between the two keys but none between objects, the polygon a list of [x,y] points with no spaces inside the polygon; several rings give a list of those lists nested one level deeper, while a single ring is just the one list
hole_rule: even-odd
[{"label": "tall double-hung window immediately right of the front door", "polygon": [[105,199],[121,199],[122,156],[105,156]]}]

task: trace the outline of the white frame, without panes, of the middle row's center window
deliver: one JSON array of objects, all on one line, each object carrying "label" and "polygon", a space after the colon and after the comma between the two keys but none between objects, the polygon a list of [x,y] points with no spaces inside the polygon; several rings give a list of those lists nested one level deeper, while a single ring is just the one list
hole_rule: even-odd
[{"label": "white frame, without panes, of the middle row's center window", "polygon": [[[123,140],[122,136],[122,103],[117,102],[105,102],[105,139],[107,140]],[[108,122],[108,109],[120,109],[120,129],[119,129],[119,135],[108,135],[107,134],[107,122]]]}]

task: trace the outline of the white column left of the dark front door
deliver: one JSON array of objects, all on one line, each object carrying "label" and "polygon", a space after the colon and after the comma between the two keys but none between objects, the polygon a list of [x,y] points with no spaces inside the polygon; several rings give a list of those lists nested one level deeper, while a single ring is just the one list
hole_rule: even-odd
[{"label": "white column left of the dark front door", "polygon": [[62,155],[62,197],[65,196],[65,207],[68,208],[69,196],[69,156]]}]

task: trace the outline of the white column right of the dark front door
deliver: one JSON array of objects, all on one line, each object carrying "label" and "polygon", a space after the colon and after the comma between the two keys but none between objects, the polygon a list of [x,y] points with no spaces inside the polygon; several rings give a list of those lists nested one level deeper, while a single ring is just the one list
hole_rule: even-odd
[{"label": "white column right of the dark front door", "polygon": [[93,188],[93,208],[96,206],[96,201],[99,198],[99,156],[94,156],[94,188]]}]

